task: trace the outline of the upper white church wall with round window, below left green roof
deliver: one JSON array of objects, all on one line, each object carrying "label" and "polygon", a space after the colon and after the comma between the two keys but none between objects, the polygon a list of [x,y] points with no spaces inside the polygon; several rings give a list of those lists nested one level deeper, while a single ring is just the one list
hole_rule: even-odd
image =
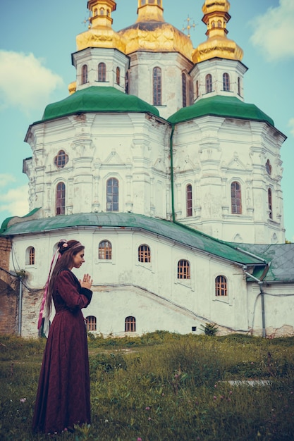
[{"label": "upper white church wall with round window, below left green roof", "polygon": [[[116,114],[117,132],[109,132],[113,116],[90,113],[34,125],[30,210],[42,206],[45,216],[56,213],[56,185],[66,186],[66,214],[106,211],[106,181],[119,182],[119,211],[166,217],[169,187],[169,127],[145,114]],[[46,129],[46,130],[45,130]],[[32,141],[34,139],[34,141]],[[162,148],[165,146],[166,148]],[[65,151],[68,163],[54,159]],[[30,172],[32,173],[32,172]]]}]

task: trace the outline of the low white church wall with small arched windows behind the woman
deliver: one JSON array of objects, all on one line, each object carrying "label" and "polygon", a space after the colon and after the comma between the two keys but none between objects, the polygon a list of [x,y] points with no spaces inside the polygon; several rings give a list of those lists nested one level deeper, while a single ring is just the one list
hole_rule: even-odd
[{"label": "low white church wall with small arched windows behind the woman", "polygon": [[[192,323],[198,316],[199,323],[205,323],[207,320],[221,323],[228,328],[235,328],[236,323],[238,328],[245,327],[243,299],[246,297],[246,285],[240,268],[151,233],[138,232],[132,228],[97,227],[15,238],[13,256],[20,268],[25,268],[27,272],[25,285],[30,288],[29,292],[24,288],[24,336],[37,333],[42,288],[47,280],[56,243],[63,237],[67,240],[80,240],[85,244],[85,263],[79,270],[74,268],[73,272],[78,278],[81,278],[83,273],[92,275],[94,294],[90,306],[84,312],[86,315],[97,317],[99,332],[123,332],[124,328],[119,328],[116,324],[117,313],[120,310],[121,316],[124,314],[136,318],[144,316],[145,321],[141,329],[154,330],[153,318],[158,312],[154,311],[157,310],[158,305],[161,305],[160,314],[166,317],[164,321],[159,320],[163,326],[160,329],[183,332],[185,328],[185,332],[190,332]],[[111,242],[111,261],[97,259],[99,242],[102,240]],[[147,244],[151,250],[151,268],[148,268],[147,263],[138,262],[140,244]],[[25,265],[27,247],[35,247],[34,266]],[[189,261],[190,279],[177,278],[177,265],[180,259]],[[11,269],[13,264],[11,261]],[[226,276],[228,299],[216,301],[214,287],[216,275]],[[116,295],[121,292],[130,294]],[[108,303],[109,299],[111,299],[110,303]],[[141,311],[141,307],[144,311]],[[185,317],[188,317],[188,321]],[[103,324],[105,321],[107,325]],[[149,328],[146,323],[150,323]]]}]

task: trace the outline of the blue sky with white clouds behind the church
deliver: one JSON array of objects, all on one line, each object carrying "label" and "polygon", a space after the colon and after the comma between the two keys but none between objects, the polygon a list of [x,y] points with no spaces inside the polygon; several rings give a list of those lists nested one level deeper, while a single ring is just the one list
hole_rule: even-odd
[{"label": "blue sky with white clouds behind the church", "polygon": [[[267,113],[286,135],[281,148],[286,239],[294,242],[294,1],[230,0],[228,38],[244,51],[248,70],[245,102]],[[187,33],[193,47],[204,42],[204,0],[163,0],[164,19]],[[75,37],[87,30],[87,0],[0,0],[0,225],[29,211],[23,159],[29,125],[45,106],[68,96],[75,80],[71,54]],[[137,0],[117,0],[112,13],[118,31],[137,20]],[[194,26],[193,26],[194,25]]]}]

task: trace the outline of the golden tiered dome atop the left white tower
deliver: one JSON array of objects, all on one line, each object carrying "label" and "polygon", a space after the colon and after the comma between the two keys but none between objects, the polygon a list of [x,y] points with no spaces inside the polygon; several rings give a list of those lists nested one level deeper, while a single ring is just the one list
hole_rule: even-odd
[{"label": "golden tiered dome atop the left white tower", "polygon": [[77,49],[87,47],[104,47],[125,52],[123,38],[115,32],[111,25],[111,13],[116,10],[114,0],[89,0],[87,8],[91,11],[90,25],[86,32],[77,35]]}]

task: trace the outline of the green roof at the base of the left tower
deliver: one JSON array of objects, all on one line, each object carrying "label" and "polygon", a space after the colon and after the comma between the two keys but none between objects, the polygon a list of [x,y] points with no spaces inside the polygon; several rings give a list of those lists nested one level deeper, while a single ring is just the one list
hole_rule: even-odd
[{"label": "green roof at the base of the left tower", "polygon": [[125,94],[114,87],[91,86],[78,90],[66,99],[49,104],[45,108],[42,121],[87,112],[152,113],[159,116],[156,107],[134,95]]}]

